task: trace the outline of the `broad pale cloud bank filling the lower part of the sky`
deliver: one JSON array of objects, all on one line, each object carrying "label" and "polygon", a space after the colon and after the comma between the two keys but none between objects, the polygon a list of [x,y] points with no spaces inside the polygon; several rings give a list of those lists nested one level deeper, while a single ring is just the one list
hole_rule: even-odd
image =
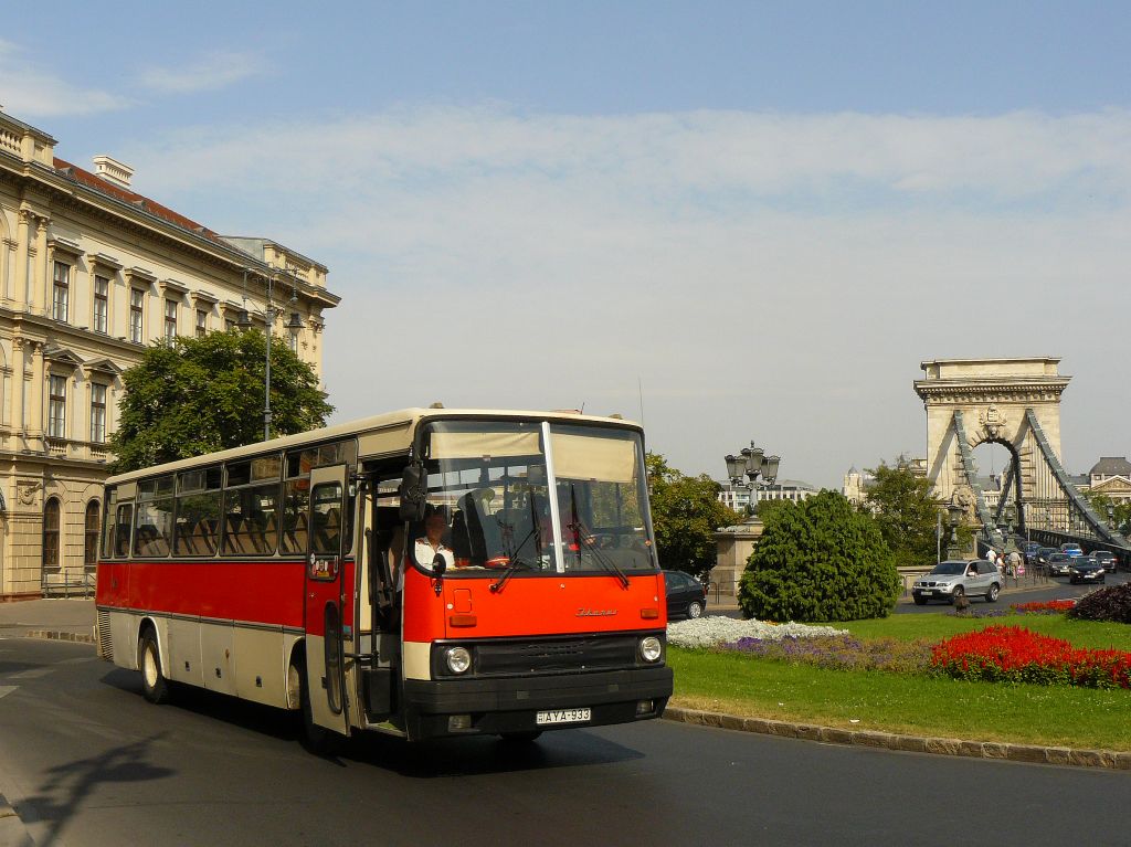
[{"label": "broad pale cloud bank filling the lower part of the sky", "polygon": [[[638,415],[688,472],[922,451],[924,358],[1125,357],[1131,114],[582,118],[398,110],[127,150],[143,190],[326,262],[339,420],[402,405]],[[1102,450],[1126,396],[1069,458]],[[1105,429],[1106,427],[1106,429]],[[917,447],[918,446],[918,447]],[[1117,455],[1117,453],[1115,453]]]}]

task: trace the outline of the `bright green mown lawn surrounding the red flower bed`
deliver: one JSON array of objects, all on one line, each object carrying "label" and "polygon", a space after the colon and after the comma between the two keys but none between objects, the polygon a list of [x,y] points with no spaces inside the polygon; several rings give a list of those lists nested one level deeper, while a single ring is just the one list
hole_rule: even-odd
[{"label": "bright green mown lawn surrounding the red flower bed", "polygon": [[[1021,623],[1085,647],[1131,649],[1131,626],[1061,616],[964,620],[896,615],[840,624],[872,638],[944,638],[993,623]],[[959,682],[883,672],[829,671],[741,654],[672,647],[673,706],[853,729],[1131,750],[1131,691]]]}]

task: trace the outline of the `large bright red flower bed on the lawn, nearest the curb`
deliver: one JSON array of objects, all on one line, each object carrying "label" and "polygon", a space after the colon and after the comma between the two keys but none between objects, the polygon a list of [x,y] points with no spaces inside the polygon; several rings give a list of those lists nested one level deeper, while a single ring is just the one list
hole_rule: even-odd
[{"label": "large bright red flower bed on the lawn, nearest the curb", "polygon": [[960,680],[1131,688],[1131,652],[1087,650],[1022,626],[987,626],[940,641],[931,664]]}]

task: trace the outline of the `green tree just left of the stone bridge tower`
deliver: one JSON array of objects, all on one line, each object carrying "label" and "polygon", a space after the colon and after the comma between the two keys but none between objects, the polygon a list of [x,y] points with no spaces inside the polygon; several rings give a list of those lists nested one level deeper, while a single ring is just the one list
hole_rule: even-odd
[{"label": "green tree just left of the stone bridge tower", "polygon": [[867,490],[867,507],[875,515],[896,563],[900,567],[933,565],[942,502],[931,496],[931,483],[917,476],[903,457],[893,466],[881,461],[878,468],[867,473],[875,478]]}]

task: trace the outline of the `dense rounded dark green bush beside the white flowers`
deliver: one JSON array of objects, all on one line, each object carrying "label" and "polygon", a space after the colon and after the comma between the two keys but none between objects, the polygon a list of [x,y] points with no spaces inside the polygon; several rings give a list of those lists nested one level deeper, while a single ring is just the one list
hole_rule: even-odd
[{"label": "dense rounded dark green bush beside the white flowers", "polygon": [[835,491],[771,509],[739,582],[746,617],[886,617],[899,597],[891,551],[875,519]]}]

